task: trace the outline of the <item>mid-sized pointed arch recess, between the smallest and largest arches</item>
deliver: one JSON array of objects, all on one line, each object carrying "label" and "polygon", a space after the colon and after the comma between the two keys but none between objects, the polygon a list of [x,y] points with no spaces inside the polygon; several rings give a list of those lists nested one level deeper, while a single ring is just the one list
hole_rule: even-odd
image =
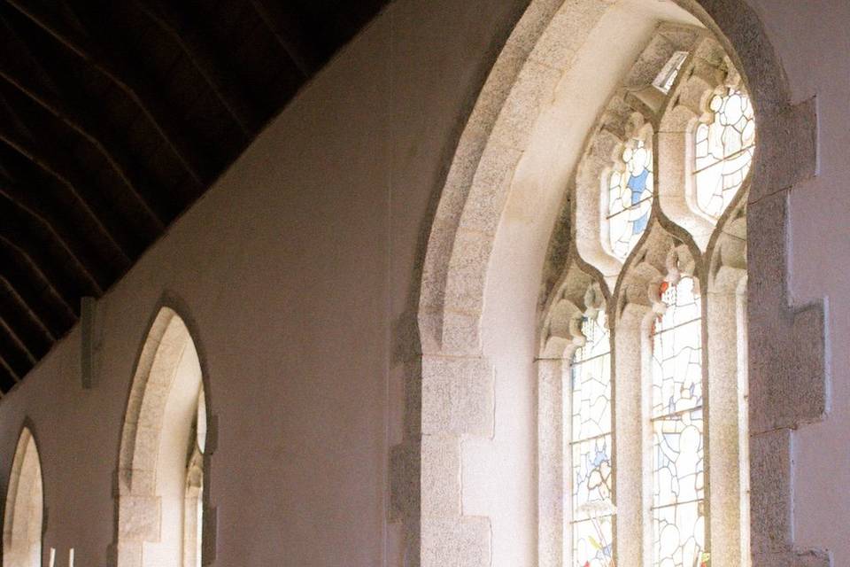
[{"label": "mid-sized pointed arch recess, between the smallest and largest arches", "polygon": [[131,386],[118,469],[118,567],[201,564],[206,400],[195,342],[162,307]]}]

